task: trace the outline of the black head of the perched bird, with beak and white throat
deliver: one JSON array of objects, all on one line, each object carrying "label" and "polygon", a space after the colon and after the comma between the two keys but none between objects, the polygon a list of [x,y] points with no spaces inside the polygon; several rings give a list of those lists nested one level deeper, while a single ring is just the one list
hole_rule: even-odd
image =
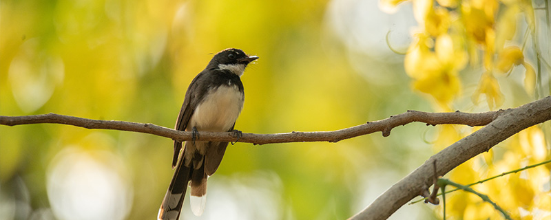
[{"label": "black head of the perched bird, with beak and white throat", "polygon": [[256,59],[258,59],[258,56],[249,56],[242,50],[229,48],[214,55],[209,63],[209,67],[227,69],[233,74],[241,76],[245,72],[245,67]]}]

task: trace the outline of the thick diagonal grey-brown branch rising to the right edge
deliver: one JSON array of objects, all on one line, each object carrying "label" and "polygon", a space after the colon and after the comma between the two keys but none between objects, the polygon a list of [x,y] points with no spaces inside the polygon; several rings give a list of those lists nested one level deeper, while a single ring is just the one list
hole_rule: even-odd
[{"label": "thick diagonal grey-brown branch rising to the right edge", "polygon": [[548,120],[551,120],[551,96],[518,108],[503,110],[487,126],[430,157],[422,166],[388,188],[371,205],[350,219],[387,219],[417,195],[428,195],[426,190],[433,184],[433,163],[436,163],[437,175],[443,176],[515,133]]}]

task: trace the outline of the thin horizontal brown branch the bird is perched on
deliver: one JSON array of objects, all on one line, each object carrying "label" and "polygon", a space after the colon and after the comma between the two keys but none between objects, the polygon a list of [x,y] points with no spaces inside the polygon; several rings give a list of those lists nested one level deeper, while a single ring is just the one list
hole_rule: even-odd
[{"label": "thin horizontal brown branch the bird is perched on", "polygon": [[[391,130],[396,126],[408,124],[411,122],[423,122],[427,125],[436,124],[465,124],[468,126],[483,126],[494,120],[500,111],[489,111],[485,113],[464,113],[464,112],[446,112],[446,113],[428,113],[423,111],[407,111],[399,115],[393,115],[384,120],[367,122],[357,126],[340,129],[337,131],[316,131],[316,132],[291,132],[291,133],[273,133],[256,134],[243,133],[239,142],[253,144],[271,144],[287,142],[338,142],[340,140],[366,135],[381,131],[383,136],[388,136]],[[155,124],[143,124],[136,122],[124,122],[116,120],[92,120],[79,118],[69,115],[59,115],[48,113],[44,115],[28,116],[1,116],[0,124],[14,126],[20,124],[69,124],[80,126],[86,129],[111,129],[120,131],[133,131],[139,133],[149,133],[163,137],[169,137],[173,140],[186,141],[191,140],[191,132],[176,131],[164,126]],[[231,132],[199,132],[200,140],[205,141],[235,141]]]}]

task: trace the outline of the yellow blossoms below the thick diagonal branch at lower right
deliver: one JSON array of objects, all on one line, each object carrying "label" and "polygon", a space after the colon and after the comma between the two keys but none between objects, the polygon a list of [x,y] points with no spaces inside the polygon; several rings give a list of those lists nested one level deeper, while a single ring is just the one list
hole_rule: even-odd
[{"label": "yellow blossoms below the thick diagonal branch at lower right", "polygon": [[[543,131],[539,126],[523,130],[496,147],[503,153],[490,151],[470,159],[455,168],[450,173],[450,179],[459,184],[471,184],[549,159]],[[550,219],[550,168],[549,164],[537,166],[471,187],[488,195],[512,219]],[[446,199],[448,219],[503,219],[501,213],[472,193],[454,192],[447,195]],[[441,207],[439,214],[443,214]]]}]

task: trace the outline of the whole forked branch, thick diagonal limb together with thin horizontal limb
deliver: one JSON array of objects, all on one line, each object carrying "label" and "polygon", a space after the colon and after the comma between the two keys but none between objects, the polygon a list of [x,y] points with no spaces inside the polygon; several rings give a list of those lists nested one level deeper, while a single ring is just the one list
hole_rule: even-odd
[{"label": "whole forked branch, thick diagonal limb together with thin horizontal limb", "polygon": [[[287,142],[338,142],[340,140],[381,131],[388,136],[396,126],[410,122],[424,122],[427,125],[464,124],[468,126],[484,126],[484,128],[464,137],[444,150],[430,157],[422,166],[415,169],[404,179],[386,190],[362,212],[351,219],[387,219],[398,208],[417,197],[430,195],[428,188],[433,184],[435,174],[433,163],[436,164],[437,175],[444,175],[468,159],[490,150],[499,142],[535,124],[551,120],[551,97],[530,102],[521,107],[485,113],[428,113],[422,111],[407,111],[393,115],[384,120],[366,122],[357,126],[336,131],[291,132],[274,134],[243,133],[240,142],[253,144],[287,143]],[[91,120],[68,115],[49,113],[45,115],[1,116],[0,124],[14,126],[20,124],[70,124],[86,129],[112,129],[150,133],[174,140],[191,140],[191,132],[176,131],[155,124],[123,122],[115,120]],[[235,141],[231,132],[200,132],[200,140],[204,141]]]}]

